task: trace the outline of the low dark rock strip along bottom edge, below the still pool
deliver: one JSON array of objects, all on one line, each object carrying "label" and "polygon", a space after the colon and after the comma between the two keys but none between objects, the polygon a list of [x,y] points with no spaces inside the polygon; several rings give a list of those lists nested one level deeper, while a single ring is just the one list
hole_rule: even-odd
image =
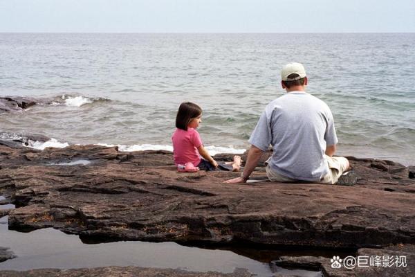
[{"label": "low dark rock strip along bottom edge, below the still pool", "polygon": [[250,277],[245,269],[233,273],[191,272],[182,269],[153,269],[144,267],[97,267],[93,269],[33,269],[29,271],[0,271],[0,277],[84,277],[84,276],[140,276],[140,277]]}]

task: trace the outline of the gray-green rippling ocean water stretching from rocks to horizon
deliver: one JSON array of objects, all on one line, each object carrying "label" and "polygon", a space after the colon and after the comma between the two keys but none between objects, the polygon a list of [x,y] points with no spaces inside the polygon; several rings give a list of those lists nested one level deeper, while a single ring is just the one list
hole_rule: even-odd
[{"label": "gray-green rippling ocean water stretching from rocks to horizon", "polygon": [[203,109],[211,154],[241,153],[302,62],[335,120],[338,154],[415,165],[415,34],[0,33],[0,96],[41,100],[0,114],[2,139],[172,150],[178,106]]}]

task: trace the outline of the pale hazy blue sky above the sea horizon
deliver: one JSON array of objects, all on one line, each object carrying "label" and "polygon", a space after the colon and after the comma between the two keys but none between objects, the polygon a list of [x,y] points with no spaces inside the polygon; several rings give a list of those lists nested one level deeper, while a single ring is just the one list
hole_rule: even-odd
[{"label": "pale hazy blue sky above the sea horizon", "polygon": [[414,33],[415,0],[0,0],[0,32]]}]

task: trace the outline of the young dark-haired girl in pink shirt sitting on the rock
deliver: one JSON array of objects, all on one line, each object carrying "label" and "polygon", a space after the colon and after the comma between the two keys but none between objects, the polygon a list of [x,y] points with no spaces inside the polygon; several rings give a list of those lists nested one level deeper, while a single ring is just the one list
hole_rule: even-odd
[{"label": "young dark-haired girl in pink shirt sitting on the rock", "polygon": [[[183,102],[178,107],[176,116],[176,132],[172,136],[174,163],[176,166],[187,164],[188,171],[196,170],[228,170],[239,171],[241,157],[234,156],[230,163],[218,164],[210,157],[196,128],[202,122],[202,109],[192,102]],[[192,167],[193,166],[193,167]]]}]

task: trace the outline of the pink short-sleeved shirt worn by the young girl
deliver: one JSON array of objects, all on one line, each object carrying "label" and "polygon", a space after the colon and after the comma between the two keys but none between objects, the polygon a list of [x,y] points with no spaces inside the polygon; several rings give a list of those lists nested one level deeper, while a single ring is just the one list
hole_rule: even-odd
[{"label": "pink short-sleeved shirt worn by the young girl", "polygon": [[187,131],[183,129],[176,129],[172,136],[173,142],[173,156],[174,163],[176,166],[180,164],[185,164],[187,162],[192,162],[194,166],[198,166],[201,162],[201,155],[197,148],[199,148],[203,143],[201,136],[193,128],[187,128]]}]

